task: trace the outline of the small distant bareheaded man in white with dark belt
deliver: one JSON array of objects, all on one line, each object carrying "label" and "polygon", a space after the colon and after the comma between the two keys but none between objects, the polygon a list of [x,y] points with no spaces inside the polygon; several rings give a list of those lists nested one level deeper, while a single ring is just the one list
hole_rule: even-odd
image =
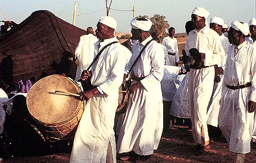
[{"label": "small distant bareheaded man in white with dark belt", "polygon": [[165,65],[168,66],[178,66],[179,62],[179,50],[178,50],[178,41],[174,38],[175,29],[170,27],[169,35],[163,38],[162,45],[167,49],[167,55],[165,55]]}]

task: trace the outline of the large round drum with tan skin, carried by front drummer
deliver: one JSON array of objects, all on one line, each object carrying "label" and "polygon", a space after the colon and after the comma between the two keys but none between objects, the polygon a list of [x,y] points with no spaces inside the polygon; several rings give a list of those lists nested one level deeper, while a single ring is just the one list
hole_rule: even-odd
[{"label": "large round drum with tan skin, carried by front drummer", "polygon": [[84,110],[84,103],[65,91],[80,94],[79,87],[68,78],[53,74],[36,82],[29,90],[26,104],[48,141],[73,138]]}]

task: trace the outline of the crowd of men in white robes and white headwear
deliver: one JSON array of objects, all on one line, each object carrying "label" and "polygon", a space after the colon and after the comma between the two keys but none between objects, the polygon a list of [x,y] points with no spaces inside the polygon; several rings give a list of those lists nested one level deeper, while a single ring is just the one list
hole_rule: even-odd
[{"label": "crowd of men in white robes and white headwear", "polygon": [[[255,134],[256,20],[253,18],[249,25],[235,20],[226,34],[227,27],[220,17],[210,18],[208,26],[209,14],[196,7],[186,24],[185,55],[190,66],[186,67],[182,89],[187,92],[195,151],[211,148],[210,124],[221,128],[230,151],[236,153],[235,162],[244,162]],[[116,162],[116,153],[123,154],[120,160],[144,162],[158,148],[166,127],[160,81],[164,64],[178,66],[175,29],[169,28],[161,45],[150,35],[149,19],[133,18],[131,32],[135,41],[130,52],[116,39],[116,26],[113,17],[100,18],[98,40],[87,29],[88,35],[81,36],[75,51],[76,80],[90,81],[92,87],[80,96],[87,104],[74,138],[70,158],[73,163]],[[125,84],[128,78],[131,85]],[[130,95],[116,141],[114,118],[122,83]]]}]

